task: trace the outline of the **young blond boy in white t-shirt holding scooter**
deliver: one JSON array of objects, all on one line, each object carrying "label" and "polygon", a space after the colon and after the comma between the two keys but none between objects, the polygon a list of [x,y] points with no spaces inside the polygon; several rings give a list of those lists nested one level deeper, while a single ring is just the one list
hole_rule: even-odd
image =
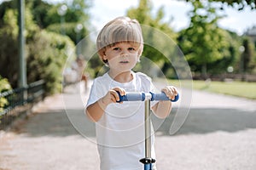
[{"label": "young blond boy in white t-shirt holding scooter", "polygon": [[[94,80],[85,112],[96,122],[101,170],[141,170],[143,164],[139,160],[145,153],[144,103],[117,103],[119,94],[154,92],[148,76],[131,71],[143,53],[141,26],[137,20],[118,17],[102,28],[96,47],[109,71]],[[162,91],[170,99],[177,95],[177,89],[172,86]],[[165,118],[172,109],[172,102],[155,102],[151,109],[156,116]],[[151,150],[154,158],[154,135]]]}]

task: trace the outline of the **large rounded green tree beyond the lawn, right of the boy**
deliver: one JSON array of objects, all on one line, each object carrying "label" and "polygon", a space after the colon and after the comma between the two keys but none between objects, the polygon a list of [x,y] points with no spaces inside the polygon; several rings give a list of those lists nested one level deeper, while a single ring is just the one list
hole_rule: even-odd
[{"label": "large rounded green tree beyond the lawn, right of the boy", "polygon": [[189,12],[189,28],[180,32],[178,42],[191,65],[192,71],[199,71],[207,78],[207,65],[224,56],[230,56],[225,32],[218,28],[217,21],[222,17],[217,8],[207,1],[190,1],[193,9]]}]

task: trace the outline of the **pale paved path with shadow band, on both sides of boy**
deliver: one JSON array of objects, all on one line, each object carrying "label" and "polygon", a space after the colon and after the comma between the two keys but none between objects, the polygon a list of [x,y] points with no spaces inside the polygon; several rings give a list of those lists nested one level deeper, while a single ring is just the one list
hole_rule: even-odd
[{"label": "pale paved path with shadow band, on both sides of boy", "polygon": [[[86,99],[67,88],[0,132],[0,170],[99,169],[94,125],[83,113]],[[156,132],[158,169],[256,169],[255,100],[194,91],[186,122],[171,136],[175,113],[183,111],[178,105]]]}]

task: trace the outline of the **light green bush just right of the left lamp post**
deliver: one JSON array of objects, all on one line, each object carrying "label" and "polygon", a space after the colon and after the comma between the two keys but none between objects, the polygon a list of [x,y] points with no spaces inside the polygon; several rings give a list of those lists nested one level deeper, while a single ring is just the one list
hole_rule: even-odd
[{"label": "light green bush just right of the left lamp post", "polygon": [[[69,50],[74,49],[68,37],[48,31],[39,31],[27,44],[30,54],[27,59],[28,82],[44,79],[49,94],[61,91],[62,70]],[[40,53],[38,53],[40,52]]]}]

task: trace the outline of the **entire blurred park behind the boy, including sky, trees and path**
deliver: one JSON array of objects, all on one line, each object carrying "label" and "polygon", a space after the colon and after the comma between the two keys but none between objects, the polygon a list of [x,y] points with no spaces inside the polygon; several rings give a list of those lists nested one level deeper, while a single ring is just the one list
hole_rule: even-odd
[{"label": "entire blurred park behind the boy, including sky, trees and path", "polygon": [[[145,46],[142,59],[158,65],[181,94],[170,116],[155,129],[157,168],[255,169],[255,3],[219,1],[225,3],[0,0],[0,169],[99,169],[92,142],[95,123],[84,116],[84,103],[93,78],[108,68],[95,51],[86,55],[95,44],[84,37],[119,15],[165,32],[182,49],[183,55],[177,56],[189,62],[192,73],[193,95],[186,95],[188,88],[179,87],[186,75],[177,77],[163,51]],[[183,5],[174,8],[177,3]],[[22,5],[25,13],[20,13]],[[218,14],[228,16],[221,19]],[[170,59],[177,59],[168,53],[173,48],[160,46],[168,49]],[[87,65],[81,72],[90,77],[85,91],[82,74],[73,71],[75,64]],[[70,79],[63,77],[69,73]],[[161,78],[159,71],[153,73]],[[175,117],[184,118],[182,127],[172,126]],[[170,135],[172,127],[178,131]]]}]

